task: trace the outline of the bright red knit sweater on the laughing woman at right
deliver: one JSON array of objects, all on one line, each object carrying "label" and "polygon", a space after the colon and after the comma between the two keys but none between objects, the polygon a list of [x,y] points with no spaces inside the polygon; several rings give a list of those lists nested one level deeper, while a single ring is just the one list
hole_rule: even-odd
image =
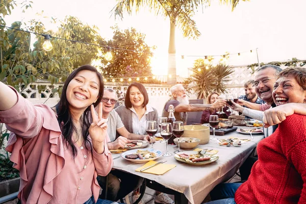
[{"label": "bright red knit sweater on the laughing woman at right", "polygon": [[257,151],[258,161],[236,191],[236,203],[306,203],[306,116],[287,117]]}]

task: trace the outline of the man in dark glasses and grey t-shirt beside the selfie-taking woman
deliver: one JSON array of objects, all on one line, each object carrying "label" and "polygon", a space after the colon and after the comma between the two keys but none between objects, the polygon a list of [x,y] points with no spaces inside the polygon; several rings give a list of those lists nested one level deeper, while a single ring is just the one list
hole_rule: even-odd
[{"label": "man in dark glasses and grey t-shirt beside the selfie-taking woman", "polygon": [[[130,140],[150,140],[148,135],[136,135],[127,131],[119,117],[118,113],[114,111],[117,103],[117,94],[114,89],[105,88],[102,98],[103,115],[102,117],[107,120],[107,132],[111,142],[107,143],[109,150],[124,148]],[[116,138],[116,133],[120,135]],[[119,198],[124,197],[133,190],[137,189],[142,184],[142,178],[136,175],[125,173],[123,171],[112,170],[109,173],[108,181],[108,194],[107,199],[117,201]],[[100,197],[104,198],[106,177],[98,176],[98,183],[103,189]],[[104,198],[106,199],[106,198]]]}]

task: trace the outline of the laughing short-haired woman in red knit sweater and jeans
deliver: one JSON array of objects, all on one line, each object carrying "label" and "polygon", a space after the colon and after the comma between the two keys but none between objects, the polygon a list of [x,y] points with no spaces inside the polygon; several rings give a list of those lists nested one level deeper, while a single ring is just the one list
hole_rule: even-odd
[{"label": "laughing short-haired woman in red knit sweater and jeans", "polygon": [[[272,95],[276,106],[306,103],[306,70],[283,70]],[[306,116],[287,117],[271,136],[259,142],[258,161],[248,180],[216,186],[211,192],[214,201],[208,203],[306,203],[305,130]]]}]

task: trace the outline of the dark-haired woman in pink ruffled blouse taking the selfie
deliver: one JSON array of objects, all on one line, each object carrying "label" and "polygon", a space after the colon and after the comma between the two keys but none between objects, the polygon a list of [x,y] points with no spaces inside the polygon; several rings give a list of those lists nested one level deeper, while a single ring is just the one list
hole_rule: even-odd
[{"label": "dark-haired woman in pink ruffled blouse taking the selfie", "polygon": [[99,105],[103,90],[101,74],[90,65],[69,75],[54,109],[34,106],[0,82],[0,122],[11,131],[6,149],[20,172],[21,203],[112,202],[98,199],[96,181],[113,165]]}]

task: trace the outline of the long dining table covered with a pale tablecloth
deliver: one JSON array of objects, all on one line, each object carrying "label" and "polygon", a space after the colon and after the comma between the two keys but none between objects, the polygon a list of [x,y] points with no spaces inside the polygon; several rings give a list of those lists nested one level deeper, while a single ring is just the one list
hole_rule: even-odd
[{"label": "long dining table covered with a pale tablecloth", "polygon": [[[238,129],[246,128],[245,126],[238,126]],[[252,128],[252,127],[247,127]],[[216,136],[218,139],[238,138],[249,139],[241,146],[221,146],[217,140],[210,140],[207,144],[197,145],[196,148],[200,149],[214,149],[218,150],[217,155],[219,159],[207,165],[190,165],[177,161],[174,158],[174,151],[177,149],[176,145],[168,145],[168,150],[172,154],[170,157],[160,157],[156,162],[166,161],[165,164],[174,164],[176,167],[167,171],[162,175],[151,173],[144,173],[135,171],[137,168],[144,165],[144,163],[133,163],[120,157],[114,160],[113,168],[125,171],[134,175],[138,175],[147,180],[147,183],[155,183],[160,186],[155,190],[173,193],[175,196],[175,204],[177,203],[201,203],[210,191],[218,184],[225,182],[235,175],[243,162],[251,155],[252,151],[257,147],[257,144],[264,139],[264,134],[240,134],[237,131],[227,133],[224,136]],[[210,136],[212,138],[212,136]],[[148,146],[150,148],[150,146]],[[154,149],[166,150],[166,143],[156,141]],[[192,149],[181,149],[188,151]],[[113,158],[118,154],[113,154]],[[148,185],[149,186],[149,185]],[[168,189],[170,191],[167,191]]]}]

